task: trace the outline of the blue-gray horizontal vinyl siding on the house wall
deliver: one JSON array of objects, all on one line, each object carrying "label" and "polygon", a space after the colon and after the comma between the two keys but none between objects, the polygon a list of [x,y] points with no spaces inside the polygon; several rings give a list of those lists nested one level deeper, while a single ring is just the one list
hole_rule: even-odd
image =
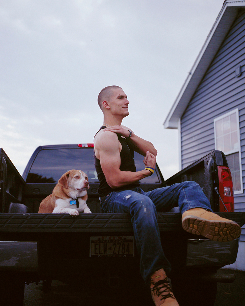
[{"label": "blue-gray horizontal vinyl siding on the house wall", "polygon": [[[235,69],[241,66],[241,75]],[[182,168],[215,148],[213,120],[239,110],[243,190],[245,189],[245,10],[239,12],[181,118]],[[235,195],[245,211],[245,193]],[[245,241],[245,228],[241,241]]]}]

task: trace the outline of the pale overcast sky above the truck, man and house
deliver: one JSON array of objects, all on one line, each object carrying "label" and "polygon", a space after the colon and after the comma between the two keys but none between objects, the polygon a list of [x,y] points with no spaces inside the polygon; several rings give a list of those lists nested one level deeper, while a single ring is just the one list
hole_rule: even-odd
[{"label": "pale overcast sky above the truck, man and house", "polygon": [[97,96],[118,85],[123,124],[154,144],[165,179],[175,174],[178,131],[163,122],[223,2],[1,0],[0,147],[22,174],[40,145],[92,143]]}]

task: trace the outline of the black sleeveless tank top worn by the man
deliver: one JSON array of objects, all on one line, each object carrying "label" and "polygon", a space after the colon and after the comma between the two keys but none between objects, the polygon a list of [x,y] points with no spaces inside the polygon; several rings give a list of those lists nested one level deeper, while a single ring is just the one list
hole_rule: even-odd
[{"label": "black sleeveless tank top worn by the man", "polygon": [[[106,126],[102,126],[99,131],[101,129],[105,129]],[[98,132],[99,132],[98,131]],[[97,132],[97,133],[98,133]],[[97,134],[96,133],[96,134]],[[136,167],[134,166],[134,145],[131,143],[130,140],[123,138],[122,136],[117,135],[119,142],[122,145],[122,150],[120,152],[120,157],[121,157],[121,166],[120,166],[120,170],[121,171],[132,171],[132,172],[136,172]],[[95,160],[95,169],[98,175],[98,179],[100,181],[100,185],[98,188],[98,193],[100,196],[106,196],[107,194],[109,194],[110,192],[113,191],[118,191],[118,190],[125,190],[125,189],[132,189],[135,188],[137,186],[139,186],[140,184],[138,182],[134,183],[134,184],[130,184],[130,185],[126,185],[120,188],[111,188],[108,184],[107,181],[105,179],[104,173],[102,171],[102,168],[100,166],[100,160],[96,158],[95,154],[94,154],[94,160]]]}]

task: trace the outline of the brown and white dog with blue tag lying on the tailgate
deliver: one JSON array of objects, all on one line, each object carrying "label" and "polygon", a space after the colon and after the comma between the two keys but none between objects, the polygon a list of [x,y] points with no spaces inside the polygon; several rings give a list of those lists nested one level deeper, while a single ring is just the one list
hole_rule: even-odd
[{"label": "brown and white dog with blue tag lying on the tailgate", "polygon": [[53,193],[40,203],[40,214],[70,214],[80,212],[91,214],[86,204],[89,182],[87,175],[81,170],[70,170],[62,175]]}]

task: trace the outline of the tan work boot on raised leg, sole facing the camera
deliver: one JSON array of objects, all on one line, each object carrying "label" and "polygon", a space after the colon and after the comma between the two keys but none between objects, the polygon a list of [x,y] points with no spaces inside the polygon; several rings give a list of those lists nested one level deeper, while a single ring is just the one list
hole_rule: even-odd
[{"label": "tan work boot on raised leg, sole facing the camera", "polygon": [[191,208],[182,215],[182,227],[188,233],[214,241],[232,241],[240,236],[240,226],[203,208]]}]

